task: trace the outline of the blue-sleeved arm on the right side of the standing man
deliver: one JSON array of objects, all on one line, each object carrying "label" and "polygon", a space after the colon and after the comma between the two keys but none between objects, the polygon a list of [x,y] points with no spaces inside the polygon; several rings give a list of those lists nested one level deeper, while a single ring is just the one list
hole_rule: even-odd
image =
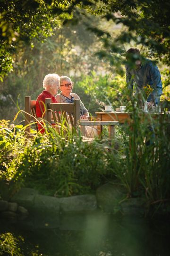
[{"label": "blue-sleeved arm on the right side of the standing man", "polygon": [[158,104],[160,100],[160,96],[162,94],[162,83],[161,83],[161,74],[156,65],[151,64],[149,74],[151,76],[151,80],[153,82],[153,91],[149,94],[147,101],[151,104]]}]

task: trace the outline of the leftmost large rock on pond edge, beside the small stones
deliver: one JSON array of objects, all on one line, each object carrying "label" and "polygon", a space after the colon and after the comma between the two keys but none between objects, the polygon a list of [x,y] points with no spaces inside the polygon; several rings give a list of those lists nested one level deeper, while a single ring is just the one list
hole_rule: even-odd
[{"label": "leftmost large rock on pond edge, beside the small stones", "polygon": [[10,201],[17,202],[19,205],[26,207],[34,206],[34,197],[37,195],[38,192],[31,188],[21,188]]}]

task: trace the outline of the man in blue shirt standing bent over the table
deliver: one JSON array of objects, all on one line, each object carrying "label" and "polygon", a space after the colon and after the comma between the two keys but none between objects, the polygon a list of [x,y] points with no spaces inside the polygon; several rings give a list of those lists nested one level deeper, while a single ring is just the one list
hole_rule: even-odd
[{"label": "man in blue shirt standing bent over the table", "polygon": [[[136,92],[143,91],[144,86],[149,84],[153,91],[147,98],[149,108],[159,104],[162,94],[161,74],[156,64],[146,58],[141,58],[140,51],[136,48],[130,48],[126,52],[126,59],[131,62],[126,64],[126,82],[128,88],[133,90],[136,83]],[[142,60],[141,60],[142,59]]]}]

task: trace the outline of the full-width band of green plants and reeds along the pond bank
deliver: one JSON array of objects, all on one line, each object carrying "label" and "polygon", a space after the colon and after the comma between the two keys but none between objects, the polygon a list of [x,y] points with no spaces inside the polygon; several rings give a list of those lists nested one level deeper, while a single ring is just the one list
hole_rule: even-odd
[{"label": "full-width band of green plants and reeds along the pond bank", "polygon": [[113,143],[109,151],[100,140],[87,144],[69,131],[59,135],[48,127],[24,146],[23,128],[2,121],[0,180],[14,190],[28,186],[69,196],[93,192],[111,179],[126,188],[127,197],[137,194],[148,205],[160,206],[170,197],[170,120],[168,115],[153,119],[152,113],[146,118],[135,99],[131,103],[133,121],[116,130],[117,149]]}]

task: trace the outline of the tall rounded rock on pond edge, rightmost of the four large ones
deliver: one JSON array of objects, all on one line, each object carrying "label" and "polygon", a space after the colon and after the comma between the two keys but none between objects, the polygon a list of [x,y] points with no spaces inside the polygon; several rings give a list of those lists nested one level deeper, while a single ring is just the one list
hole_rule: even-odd
[{"label": "tall rounded rock on pond edge, rightmost of the four large ones", "polygon": [[117,213],[121,211],[119,202],[126,197],[123,187],[114,184],[104,184],[96,191],[99,208],[106,212]]}]

